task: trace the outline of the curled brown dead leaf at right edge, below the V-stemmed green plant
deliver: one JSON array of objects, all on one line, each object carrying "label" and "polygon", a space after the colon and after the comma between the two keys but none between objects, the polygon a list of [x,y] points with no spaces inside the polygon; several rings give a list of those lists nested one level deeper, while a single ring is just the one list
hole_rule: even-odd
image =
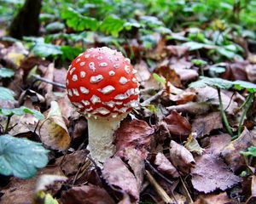
[{"label": "curled brown dead leaf at right edge, below the V-stemmed green plant", "polygon": [[224,157],[224,161],[230,165],[231,169],[236,172],[240,167],[246,165],[240,151],[247,151],[248,147],[255,145],[256,135],[250,133],[245,127],[240,137],[228,144],[222,150],[221,155]]}]

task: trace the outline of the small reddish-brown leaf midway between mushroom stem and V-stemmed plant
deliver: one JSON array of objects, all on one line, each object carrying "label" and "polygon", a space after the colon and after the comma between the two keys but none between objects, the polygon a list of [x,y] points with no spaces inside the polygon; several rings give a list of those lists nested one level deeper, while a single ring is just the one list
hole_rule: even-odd
[{"label": "small reddish-brown leaf midway between mushroom stem and V-stemmed plant", "polygon": [[179,115],[177,111],[172,111],[163,122],[165,122],[164,124],[171,134],[177,135],[181,139],[186,139],[191,132],[190,123],[185,117]]}]

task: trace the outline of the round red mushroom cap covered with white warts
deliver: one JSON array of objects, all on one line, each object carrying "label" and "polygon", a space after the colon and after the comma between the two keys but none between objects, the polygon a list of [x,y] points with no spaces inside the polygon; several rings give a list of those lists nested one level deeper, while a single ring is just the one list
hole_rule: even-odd
[{"label": "round red mushroom cap covered with white warts", "polygon": [[67,71],[67,94],[85,116],[108,120],[137,106],[138,83],[130,59],[111,48],[90,48]]}]

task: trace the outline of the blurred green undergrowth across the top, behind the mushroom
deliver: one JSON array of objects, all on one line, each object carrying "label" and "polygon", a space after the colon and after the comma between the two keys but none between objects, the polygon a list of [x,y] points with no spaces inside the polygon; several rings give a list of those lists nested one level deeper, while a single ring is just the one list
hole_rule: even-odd
[{"label": "blurred green undergrowth across the top, behind the mushroom", "polygon": [[[0,22],[8,27],[24,1],[1,0]],[[142,49],[166,42],[189,47],[211,47],[218,62],[242,57],[239,38],[255,45],[255,0],[43,0],[41,38],[25,37],[32,52],[41,57],[70,60],[90,43],[119,48],[133,57],[131,40]],[[125,46],[126,45],[126,46]],[[220,48],[221,47],[221,48]],[[126,50],[124,50],[126,49]],[[47,52],[45,52],[47,50]],[[127,53],[127,50],[131,52]],[[255,50],[252,50],[255,51]]]}]

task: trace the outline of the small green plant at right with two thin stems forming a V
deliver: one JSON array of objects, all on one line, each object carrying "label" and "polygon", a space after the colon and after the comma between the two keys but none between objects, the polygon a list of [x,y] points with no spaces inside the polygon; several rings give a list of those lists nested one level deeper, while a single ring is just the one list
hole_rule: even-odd
[{"label": "small green plant at right with two thin stems forming a V", "polygon": [[[219,109],[221,111],[224,126],[226,127],[226,130],[228,131],[228,133],[230,133],[230,135],[233,136],[233,139],[236,139],[237,137],[239,137],[241,135],[241,127],[244,122],[244,118],[247,115],[248,109],[250,108],[250,106],[253,103],[254,93],[256,91],[256,85],[251,82],[244,82],[244,81],[230,82],[228,80],[224,80],[221,78],[209,78],[209,77],[201,77],[201,80],[199,80],[197,82],[192,82],[189,84],[190,88],[201,88],[201,87],[205,87],[205,86],[210,86],[210,87],[217,89]],[[227,116],[225,114],[222,99],[221,99],[221,93],[220,93],[221,89],[229,89],[229,88],[236,88],[236,90],[238,90],[238,91],[240,91],[241,89],[246,89],[247,92],[249,93],[246,101],[244,102],[243,105],[241,105],[241,108],[243,108],[243,111],[241,114],[241,119],[240,119],[238,130],[237,130],[237,135],[235,135],[235,136],[232,131],[232,128],[230,127]]]}]

